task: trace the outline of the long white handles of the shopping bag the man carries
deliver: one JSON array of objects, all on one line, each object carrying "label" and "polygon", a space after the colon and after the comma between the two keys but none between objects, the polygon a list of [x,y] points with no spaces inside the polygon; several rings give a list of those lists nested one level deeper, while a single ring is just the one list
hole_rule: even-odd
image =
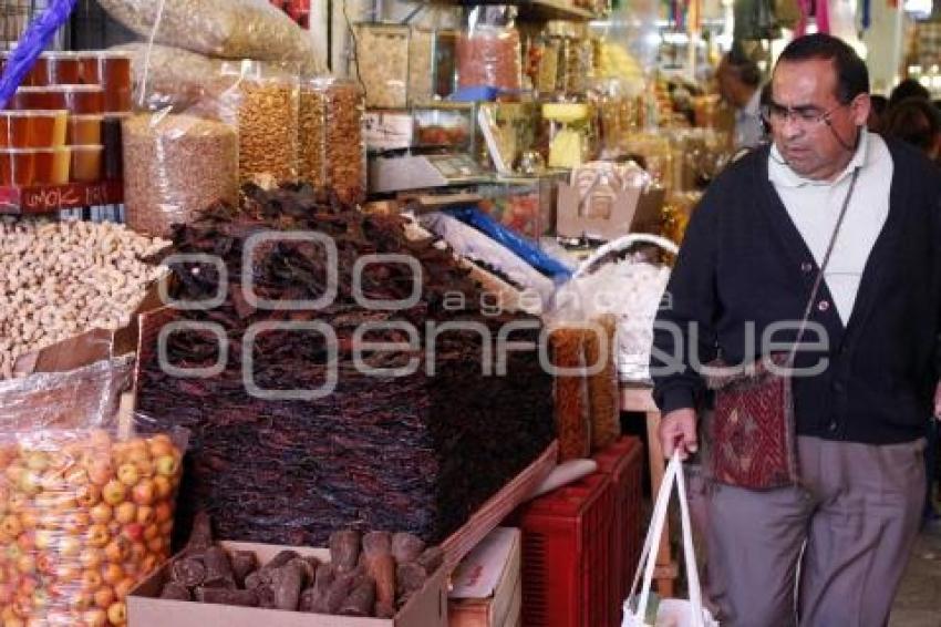
[{"label": "long white handles of the shopping bag the man carries", "polygon": [[666,523],[666,515],[670,510],[670,496],[673,492],[673,484],[676,484],[676,496],[680,500],[680,526],[683,534],[683,555],[686,562],[686,577],[690,587],[690,625],[692,627],[704,627],[703,621],[703,602],[702,587],[700,585],[699,568],[696,566],[696,555],[693,547],[693,532],[690,521],[690,507],[686,500],[686,483],[683,477],[683,463],[679,455],[673,455],[666,466],[666,473],[663,475],[663,481],[660,484],[660,492],[656,495],[656,502],[653,506],[651,516],[650,530],[643,543],[640,563],[638,564],[634,580],[631,584],[631,593],[628,599],[634,598],[638,590],[638,584],[643,573],[643,585],[640,592],[640,602],[635,616],[642,620],[647,616],[647,606],[650,600],[650,588],[653,585],[653,569],[656,565],[656,558],[653,556],[653,547],[660,545],[660,538],[663,535],[663,527]]}]

